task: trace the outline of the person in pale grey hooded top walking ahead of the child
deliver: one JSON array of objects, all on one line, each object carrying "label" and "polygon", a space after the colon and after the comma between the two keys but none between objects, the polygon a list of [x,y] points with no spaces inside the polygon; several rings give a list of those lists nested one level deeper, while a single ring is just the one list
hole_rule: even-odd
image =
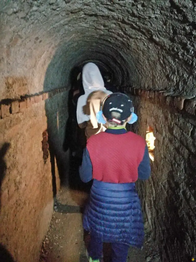
[{"label": "person in pale grey hooded top walking ahead of the child", "polygon": [[85,128],[88,139],[91,135],[105,131],[106,127],[97,123],[96,113],[100,111],[102,101],[112,94],[104,86],[100,70],[94,63],[87,63],[82,70],[82,84],[85,94],[77,102],[77,122],[80,128]]}]

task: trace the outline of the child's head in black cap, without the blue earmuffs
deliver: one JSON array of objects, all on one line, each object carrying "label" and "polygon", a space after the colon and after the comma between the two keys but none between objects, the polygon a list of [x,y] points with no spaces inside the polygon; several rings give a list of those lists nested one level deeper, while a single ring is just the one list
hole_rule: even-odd
[{"label": "child's head in black cap, without the blue earmuffs", "polygon": [[131,120],[134,110],[130,98],[121,93],[107,96],[102,107],[103,118],[108,127],[125,126]]}]

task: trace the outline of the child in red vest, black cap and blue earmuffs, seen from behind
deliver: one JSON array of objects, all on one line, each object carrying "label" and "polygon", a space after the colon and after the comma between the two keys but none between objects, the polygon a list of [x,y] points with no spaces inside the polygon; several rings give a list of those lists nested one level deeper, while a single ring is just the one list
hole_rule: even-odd
[{"label": "child in red vest, black cap and blue earmuffs, seen from behind", "polygon": [[107,129],[92,135],[83,152],[80,178],[86,183],[93,179],[83,216],[84,230],[90,232],[89,261],[102,261],[103,243],[112,244],[112,262],[126,262],[129,246],[143,245],[135,182],[148,179],[151,168],[145,139],[125,128],[137,120],[133,111],[125,94],[108,95],[97,113],[97,121]]}]

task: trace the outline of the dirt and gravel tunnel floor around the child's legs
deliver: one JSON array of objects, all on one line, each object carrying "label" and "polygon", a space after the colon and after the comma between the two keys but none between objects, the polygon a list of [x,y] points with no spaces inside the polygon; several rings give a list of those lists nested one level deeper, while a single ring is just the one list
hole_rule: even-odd
[{"label": "dirt and gravel tunnel floor around the child's legs", "polygon": [[[82,212],[91,184],[86,185],[81,182],[78,174],[79,165],[80,161],[76,159],[70,162],[69,186],[62,186],[57,195],[39,262],[88,262],[85,246],[89,242],[89,235],[83,231]],[[142,250],[130,248],[128,262],[160,262],[152,234],[146,225],[145,228],[145,245]],[[110,251],[110,245],[104,244],[104,262],[110,261]]]}]

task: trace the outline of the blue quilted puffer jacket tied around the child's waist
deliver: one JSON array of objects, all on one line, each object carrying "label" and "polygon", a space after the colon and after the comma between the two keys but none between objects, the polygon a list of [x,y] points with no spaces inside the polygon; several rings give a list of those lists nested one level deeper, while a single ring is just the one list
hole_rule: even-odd
[{"label": "blue quilted puffer jacket tied around the child's waist", "polygon": [[105,243],[142,248],[144,225],[135,183],[113,184],[94,179],[83,227]]}]

